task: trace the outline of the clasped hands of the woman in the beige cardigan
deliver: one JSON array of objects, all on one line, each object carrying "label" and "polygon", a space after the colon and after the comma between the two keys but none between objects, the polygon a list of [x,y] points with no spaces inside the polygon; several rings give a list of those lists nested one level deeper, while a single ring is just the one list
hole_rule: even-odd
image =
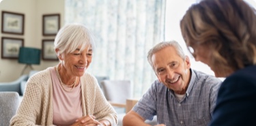
[{"label": "clasped hands of the woman in the beige cardigan", "polygon": [[95,116],[83,116],[79,119],[76,119],[76,122],[72,126],[105,126],[103,123],[100,123],[96,120]]}]

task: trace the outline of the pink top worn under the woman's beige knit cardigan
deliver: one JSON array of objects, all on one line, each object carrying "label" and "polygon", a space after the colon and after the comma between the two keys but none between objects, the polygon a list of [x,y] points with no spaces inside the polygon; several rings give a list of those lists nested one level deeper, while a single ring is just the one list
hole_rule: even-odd
[{"label": "pink top worn under the woman's beige knit cardigan", "polygon": [[72,87],[61,86],[54,67],[51,69],[51,78],[53,80],[53,124],[72,125],[76,119],[83,116],[81,82],[79,81],[79,85],[74,87],[71,92],[67,92]]}]

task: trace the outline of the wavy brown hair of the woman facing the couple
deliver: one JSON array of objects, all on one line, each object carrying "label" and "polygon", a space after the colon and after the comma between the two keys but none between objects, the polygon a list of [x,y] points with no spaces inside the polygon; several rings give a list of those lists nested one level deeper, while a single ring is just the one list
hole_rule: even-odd
[{"label": "wavy brown hair of the woman facing the couple", "polygon": [[255,14],[242,0],[205,0],[187,10],[180,27],[187,46],[208,46],[212,66],[235,72],[256,64]]}]

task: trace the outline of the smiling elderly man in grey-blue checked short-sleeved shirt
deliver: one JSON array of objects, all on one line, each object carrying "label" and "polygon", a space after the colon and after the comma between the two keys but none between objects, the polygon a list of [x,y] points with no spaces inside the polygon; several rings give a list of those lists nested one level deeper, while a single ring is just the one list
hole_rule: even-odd
[{"label": "smiling elderly man in grey-blue checked short-sleeved shirt", "polygon": [[124,126],[143,126],[157,116],[160,125],[208,125],[221,80],[190,69],[175,41],[161,42],[147,55],[158,80],[124,116]]}]

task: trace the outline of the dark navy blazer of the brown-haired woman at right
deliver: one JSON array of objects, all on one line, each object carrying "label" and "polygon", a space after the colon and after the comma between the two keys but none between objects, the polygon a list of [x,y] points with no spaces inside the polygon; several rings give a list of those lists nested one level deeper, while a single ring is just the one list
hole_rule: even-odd
[{"label": "dark navy blazer of the brown-haired woman at right", "polygon": [[218,91],[210,126],[256,125],[256,65],[227,77]]}]

